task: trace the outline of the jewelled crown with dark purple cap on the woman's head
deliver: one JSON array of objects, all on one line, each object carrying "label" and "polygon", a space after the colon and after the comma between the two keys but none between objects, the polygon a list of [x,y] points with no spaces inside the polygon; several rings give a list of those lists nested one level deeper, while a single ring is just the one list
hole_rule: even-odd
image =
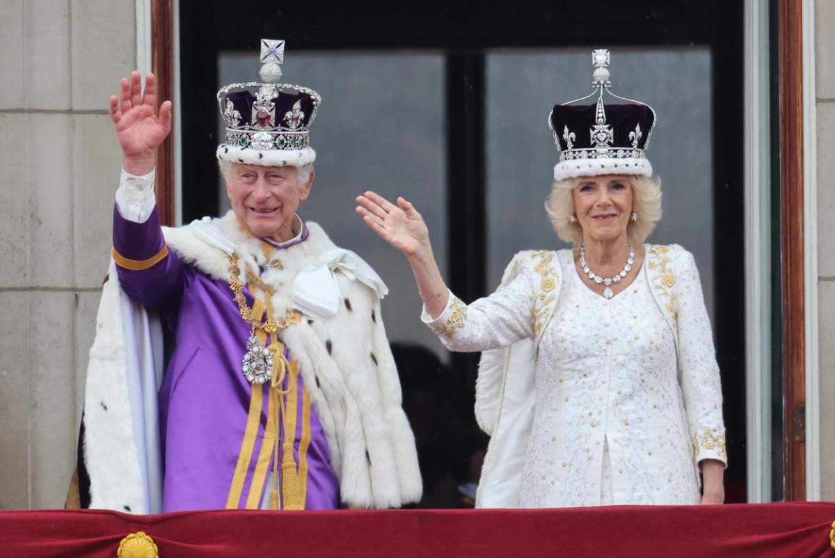
[{"label": "jewelled crown with dark purple cap on the woman's head", "polygon": [[[592,51],[591,61],[595,67],[592,92],[554,105],[548,117],[559,149],[554,180],[595,175],[651,176],[652,165],[645,150],[655,128],[655,110],[611,92],[608,50]],[[605,103],[604,94],[614,102]],[[579,104],[595,95],[595,104]]]}]

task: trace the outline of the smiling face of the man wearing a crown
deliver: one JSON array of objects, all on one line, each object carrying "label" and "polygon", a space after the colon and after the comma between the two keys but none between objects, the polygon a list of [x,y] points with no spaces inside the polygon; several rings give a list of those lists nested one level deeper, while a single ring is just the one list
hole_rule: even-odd
[{"label": "smiling face of the man wearing a crown", "polygon": [[306,200],[313,175],[299,184],[294,166],[232,165],[226,195],[238,222],[252,235],[288,241],[293,237],[296,210]]}]

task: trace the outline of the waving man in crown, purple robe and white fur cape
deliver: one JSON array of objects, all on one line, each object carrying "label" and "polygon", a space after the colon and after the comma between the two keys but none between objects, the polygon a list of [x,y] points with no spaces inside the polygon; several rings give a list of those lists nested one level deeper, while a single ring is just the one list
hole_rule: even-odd
[{"label": "waving man in crown, purple robe and white fur cape", "polygon": [[[218,92],[226,140],[217,158],[232,207],[219,219],[159,224],[154,155],[172,106],[155,114],[153,74],[144,94],[134,72],[110,99],[123,170],[79,440],[83,507],[322,510],[420,499],[380,315],[387,289],[296,213],[315,177],[309,126],[321,97],[277,83],[283,51],[262,41],[264,83]],[[154,316],[175,332],[164,374]]]}]

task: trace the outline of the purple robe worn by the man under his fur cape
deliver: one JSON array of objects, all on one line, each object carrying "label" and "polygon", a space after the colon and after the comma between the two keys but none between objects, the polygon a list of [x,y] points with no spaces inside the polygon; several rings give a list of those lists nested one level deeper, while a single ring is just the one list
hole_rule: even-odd
[{"label": "purple robe worn by the man under his fur cape", "polygon": [[[164,246],[159,214],[144,223],[124,219],[114,210],[114,247],[131,260],[147,260]],[[292,250],[292,247],[286,247]],[[223,509],[249,413],[251,384],[240,371],[250,326],[240,317],[226,282],[215,281],[173,251],[142,271],[119,267],[119,281],[129,297],[159,312],[175,331],[175,347],[159,388],[159,424],[164,456],[163,511]],[[251,292],[245,289],[251,307]],[[301,377],[294,452],[299,460],[302,426]],[[269,383],[261,386],[264,404],[240,507],[244,507],[256,458],[261,451],[269,408]],[[337,475],[316,407],[311,404],[311,443],[307,451],[306,509],[339,505]],[[280,431],[283,443],[284,432]],[[279,446],[281,447],[281,446]],[[281,464],[279,464],[281,465]],[[279,468],[281,469],[281,468]],[[270,471],[273,464],[270,464]],[[265,483],[259,502],[271,488]]]}]

